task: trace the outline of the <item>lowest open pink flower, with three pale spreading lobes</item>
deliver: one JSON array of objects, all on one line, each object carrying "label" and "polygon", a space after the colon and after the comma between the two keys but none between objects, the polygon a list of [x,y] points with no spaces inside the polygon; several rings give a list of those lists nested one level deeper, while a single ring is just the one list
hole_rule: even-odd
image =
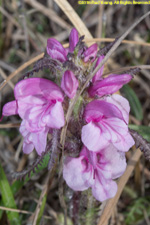
[{"label": "lowest open pink flower, with three pale spreading lobes", "polygon": [[125,154],[113,145],[96,153],[83,147],[78,158],[65,159],[63,177],[73,190],[84,191],[91,187],[93,196],[104,201],[115,196],[117,184],[112,179],[120,177],[125,169]]}]

